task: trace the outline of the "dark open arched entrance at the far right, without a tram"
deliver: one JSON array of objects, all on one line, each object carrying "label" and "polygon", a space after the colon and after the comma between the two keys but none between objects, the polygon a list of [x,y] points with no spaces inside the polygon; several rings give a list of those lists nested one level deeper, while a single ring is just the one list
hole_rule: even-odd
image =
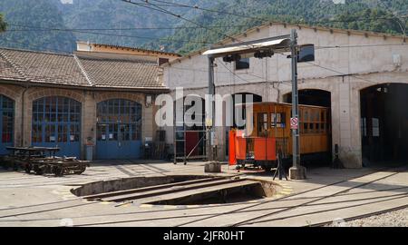
[{"label": "dark open arched entrance at the far right, without a tram", "polygon": [[408,84],[360,92],[363,165],[408,162]]}]

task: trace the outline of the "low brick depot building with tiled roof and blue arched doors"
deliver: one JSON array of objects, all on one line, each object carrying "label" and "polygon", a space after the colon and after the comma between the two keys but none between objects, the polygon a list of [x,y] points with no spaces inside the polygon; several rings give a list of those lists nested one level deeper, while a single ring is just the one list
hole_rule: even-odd
[{"label": "low brick depot building with tiled roof and blue arched doors", "polygon": [[160,64],[178,58],[139,48],[78,43],[74,54],[0,48],[0,154],[57,146],[60,156],[137,159],[156,137]]}]

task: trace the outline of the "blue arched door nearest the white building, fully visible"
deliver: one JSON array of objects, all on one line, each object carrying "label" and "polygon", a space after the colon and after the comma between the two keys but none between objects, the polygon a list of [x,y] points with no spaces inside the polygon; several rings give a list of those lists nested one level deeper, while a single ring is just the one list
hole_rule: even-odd
[{"label": "blue arched door nearest the white building, fully visible", "polygon": [[97,159],[141,157],[141,104],[109,100],[97,106]]}]

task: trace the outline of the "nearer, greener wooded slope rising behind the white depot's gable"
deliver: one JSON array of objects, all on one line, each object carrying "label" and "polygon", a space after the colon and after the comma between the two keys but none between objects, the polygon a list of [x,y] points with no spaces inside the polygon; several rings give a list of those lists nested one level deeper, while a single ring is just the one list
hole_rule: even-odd
[{"label": "nearer, greener wooded slope rising behind the white depot's gable", "polygon": [[[333,1],[317,0],[239,0],[223,1],[213,6],[220,13],[203,12],[199,14],[195,22],[202,25],[227,26],[212,28],[211,30],[195,28],[180,29],[171,36],[174,40],[192,38],[193,41],[217,43],[225,38],[223,34],[238,34],[249,27],[261,25],[267,21],[281,21],[287,23],[323,25],[337,28],[367,30],[382,33],[402,34],[396,16],[403,22],[403,27],[408,21],[408,1],[406,0],[352,0],[346,1],[345,5],[335,5]],[[239,7],[237,7],[239,5]],[[386,7],[385,7],[386,6]],[[394,13],[398,10],[398,13]],[[233,13],[235,15],[228,15]],[[243,17],[253,16],[253,18]],[[191,24],[186,24],[191,26]],[[406,31],[405,31],[406,32]],[[147,44],[158,46],[160,42]],[[161,42],[164,44],[164,42]],[[180,54],[186,54],[201,48],[203,44],[173,42],[168,46],[170,50],[176,50]]]}]

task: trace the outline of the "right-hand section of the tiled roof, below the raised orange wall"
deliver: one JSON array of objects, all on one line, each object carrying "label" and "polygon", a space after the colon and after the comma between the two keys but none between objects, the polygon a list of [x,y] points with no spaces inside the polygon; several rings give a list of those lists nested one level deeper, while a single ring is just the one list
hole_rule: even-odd
[{"label": "right-hand section of the tiled roof, below the raised orange wall", "polygon": [[157,63],[129,54],[76,54],[94,86],[162,88]]}]

